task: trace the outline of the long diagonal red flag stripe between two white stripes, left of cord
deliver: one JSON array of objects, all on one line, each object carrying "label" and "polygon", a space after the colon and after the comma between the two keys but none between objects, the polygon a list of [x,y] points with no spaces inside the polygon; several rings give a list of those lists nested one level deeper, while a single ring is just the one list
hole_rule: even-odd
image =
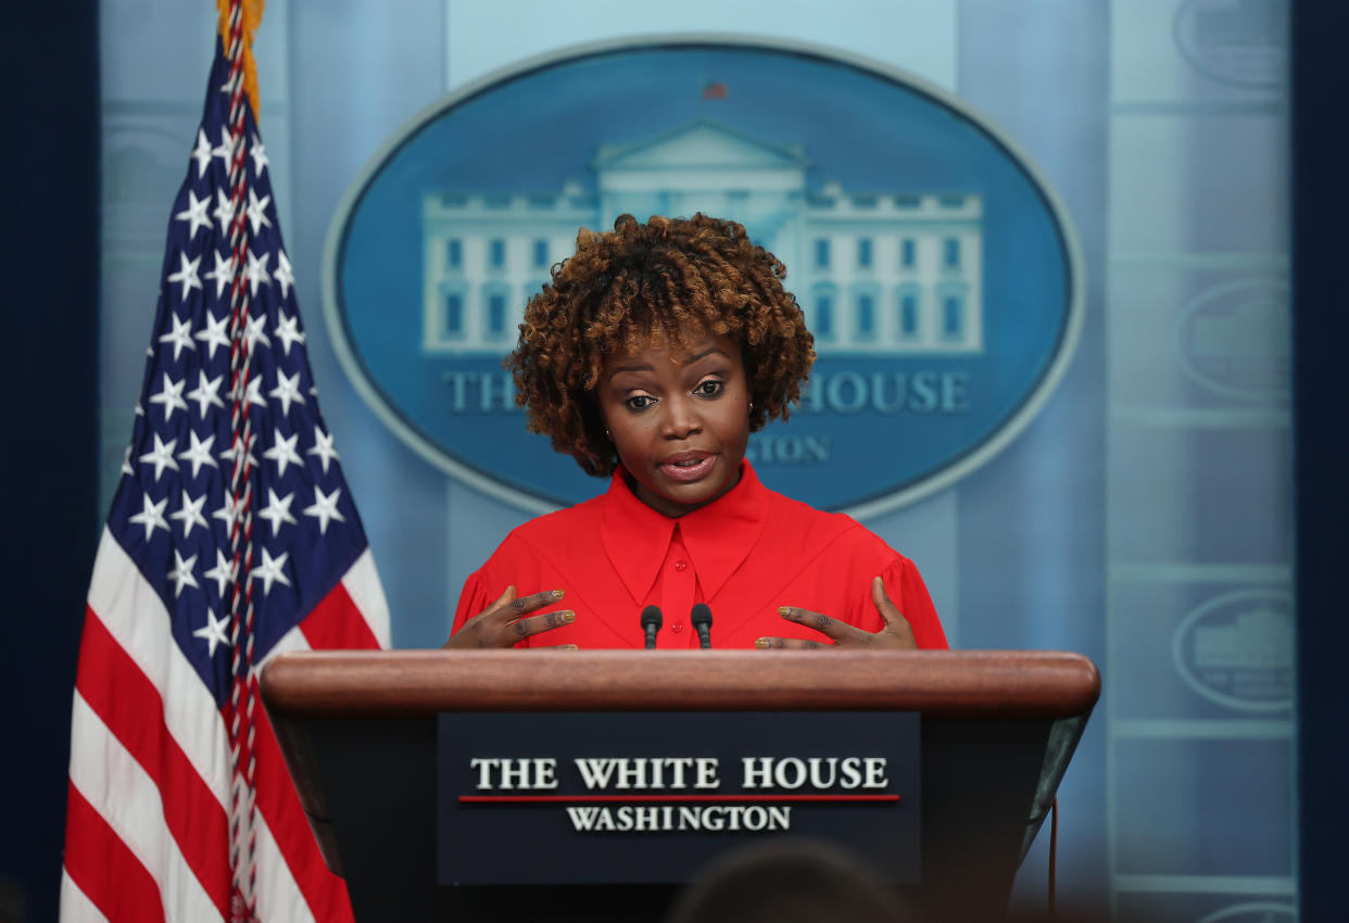
[{"label": "long diagonal red flag stripe between two white stripes, left of cord", "polygon": [[[165,725],[159,690],[92,609],[85,613],[76,688],[154,780],[163,803],[165,824],[188,868],[220,915],[229,916],[225,810]],[[202,718],[209,721],[206,715]]]}]

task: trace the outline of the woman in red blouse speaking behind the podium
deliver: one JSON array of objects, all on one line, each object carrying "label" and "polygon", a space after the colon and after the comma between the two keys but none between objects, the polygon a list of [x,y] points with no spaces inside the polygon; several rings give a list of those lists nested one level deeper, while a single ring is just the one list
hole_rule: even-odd
[{"label": "woman in red blouse speaking behind the podium", "polygon": [[509,366],[529,429],[608,490],[511,532],[447,648],[947,646],[909,559],[745,457],[815,360],[785,275],[704,215],[579,233]]}]

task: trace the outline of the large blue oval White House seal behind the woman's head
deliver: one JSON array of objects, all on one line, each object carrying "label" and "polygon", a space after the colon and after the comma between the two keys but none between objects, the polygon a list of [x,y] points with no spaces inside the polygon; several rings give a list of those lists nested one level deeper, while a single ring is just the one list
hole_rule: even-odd
[{"label": "large blue oval White House seal behind the woman's head", "polygon": [[472,487],[595,495],[525,430],[502,359],[576,231],[625,212],[746,225],[788,267],[819,359],[751,437],[770,487],[870,515],[996,455],[1062,376],[1075,236],[1016,146],[944,90],[795,43],[585,46],[452,93],[379,151],[328,235],[324,304],[379,417]]}]

